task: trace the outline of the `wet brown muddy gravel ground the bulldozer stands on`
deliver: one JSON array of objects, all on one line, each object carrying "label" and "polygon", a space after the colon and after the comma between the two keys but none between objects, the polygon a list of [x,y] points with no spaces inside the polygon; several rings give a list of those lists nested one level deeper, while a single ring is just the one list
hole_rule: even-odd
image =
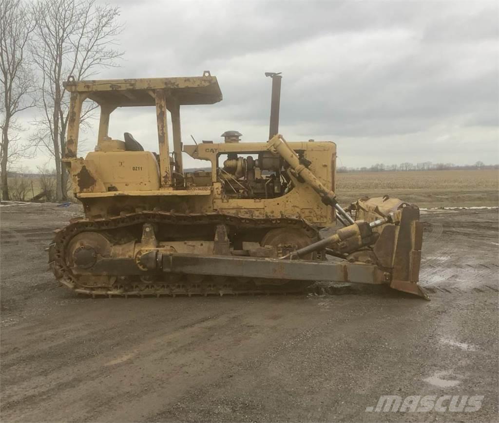
[{"label": "wet brown muddy gravel ground the bulldozer stands on", "polygon": [[[343,295],[102,298],[53,280],[78,206],[1,208],[1,420],[492,422],[498,212],[424,212],[431,301]],[[479,395],[471,413],[376,413],[381,395]]]}]

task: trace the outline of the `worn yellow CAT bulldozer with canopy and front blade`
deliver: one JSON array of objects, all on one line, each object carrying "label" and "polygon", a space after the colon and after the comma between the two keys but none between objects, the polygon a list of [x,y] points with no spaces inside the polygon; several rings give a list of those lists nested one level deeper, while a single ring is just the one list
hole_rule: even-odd
[{"label": "worn yellow CAT bulldozer with canopy and front blade", "polygon": [[[419,209],[335,194],[336,144],[278,133],[281,75],[272,79],[269,137],[181,139],[180,108],[222,100],[217,78],[75,81],[63,161],[85,216],[56,231],[55,277],[89,295],[301,292],[316,281],[384,284],[427,298],[418,285]],[[100,106],[95,150],[77,157],[84,100]],[[158,152],[130,133],[110,137],[118,107],[156,108]],[[169,112],[169,113],[167,113]],[[168,119],[170,115],[170,119]],[[170,150],[171,121],[173,151]],[[182,154],[203,170],[184,171]],[[323,228],[336,229],[321,238]]]}]

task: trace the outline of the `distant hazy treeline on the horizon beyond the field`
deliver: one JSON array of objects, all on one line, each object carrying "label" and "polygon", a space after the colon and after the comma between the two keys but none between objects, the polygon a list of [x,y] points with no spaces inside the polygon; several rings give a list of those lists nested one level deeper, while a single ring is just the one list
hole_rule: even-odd
[{"label": "distant hazy treeline on the horizon beyond the field", "polygon": [[454,163],[432,163],[424,161],[422,163],[400,163],[384,164],[376,163],[370,167],[347,167],[338,166],[336,172],[384,172],[384,171],[409,171],[409,170],[477,170],[477,169],[499,169],[499,164],[485,164],[483,161],[477,161],[475,164],[456,165]]}]

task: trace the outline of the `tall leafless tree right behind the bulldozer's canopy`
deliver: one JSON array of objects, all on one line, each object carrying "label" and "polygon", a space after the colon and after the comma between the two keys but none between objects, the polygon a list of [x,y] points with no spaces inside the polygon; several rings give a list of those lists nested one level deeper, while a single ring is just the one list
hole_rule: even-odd
[{"label": "tall leafless tree right behind the bulldozer's canopy", "polygon": [[[95,0],[38,0],[33,57],[40,72],[43,119],[37,121],[37,146],[46,147],[55,159],[56,199],[67,198],[67,171],[61,165],[66,147],[69,99],[62,83],[69,76],[85,79],[100,69],[116,66],[123,54],[115,48],[121,32],[119,7],[98,5]],[[85,102],[84,122],[96,105]]]}]

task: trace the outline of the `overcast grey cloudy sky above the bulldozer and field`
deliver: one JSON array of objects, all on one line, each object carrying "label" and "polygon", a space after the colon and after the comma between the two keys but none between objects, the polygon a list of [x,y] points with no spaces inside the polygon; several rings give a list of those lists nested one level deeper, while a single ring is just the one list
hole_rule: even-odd
[{"label": "overcast grey cloudy sky above the bulldozer and field", "polygon": [[[181,111],[185,143],[226,130],[266,141],[274,71],[279,132],[335,141],[339,164],[499,162],[497,1],[111,3],[125,55],[99,77],[217,76],[221,103]],[[157,150],[154,109],[115,111],[110,136],[123,132]]]}]

